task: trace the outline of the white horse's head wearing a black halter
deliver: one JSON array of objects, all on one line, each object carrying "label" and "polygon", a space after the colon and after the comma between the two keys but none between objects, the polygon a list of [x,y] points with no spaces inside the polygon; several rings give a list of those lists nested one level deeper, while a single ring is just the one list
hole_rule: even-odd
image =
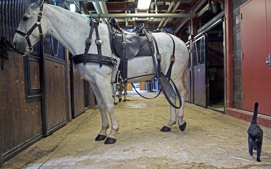
[{"label": "white horse's head wearing a black halter", "polygon": [[[13,46],[21,52],[31,52],[41,36],[46,35],[48,23],[40,11],[43,0],[38,0],[31,4],[21,19],[18,29],[13,38]],[[35,28],[35,29],[34,29]],[[40,35],[39,29],[42,28],[44,35]],[[34,30],[33,30],[34,29]]]}]

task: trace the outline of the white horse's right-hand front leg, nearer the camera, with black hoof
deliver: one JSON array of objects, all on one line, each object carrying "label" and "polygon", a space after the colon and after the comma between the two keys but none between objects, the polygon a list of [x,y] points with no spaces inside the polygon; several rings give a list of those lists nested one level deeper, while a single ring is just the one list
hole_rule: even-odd
[{"label": "white horse's right-hand front leg, nearer the camera, with black hoof", "polygon": [[102,99],[104,101],[105,107],[109,114],[111,120],[111,132],[105,140],[105,144],[112,144],[116,142],[116,133],[119,131],[119,124],[116,119],[116,115],[114,113],[114,104],[111,96],[111,88],[110,88],[110,78],[108,78],[108,82],[105,79],[97,79],[96,81],[97,87],[101,93]]}]

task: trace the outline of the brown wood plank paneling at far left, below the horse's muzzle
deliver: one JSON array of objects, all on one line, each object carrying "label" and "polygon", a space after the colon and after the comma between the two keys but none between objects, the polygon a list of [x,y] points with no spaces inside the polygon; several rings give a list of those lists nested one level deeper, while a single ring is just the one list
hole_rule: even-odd
[{"label": "brown wood plank paneling at far left, below the horse's muzzle", "polygon": [[24,57],[13,52],[9,57],[4,71],[0,71],[0,144],[4,161],[43,137],[41,101],[25,100]]}]

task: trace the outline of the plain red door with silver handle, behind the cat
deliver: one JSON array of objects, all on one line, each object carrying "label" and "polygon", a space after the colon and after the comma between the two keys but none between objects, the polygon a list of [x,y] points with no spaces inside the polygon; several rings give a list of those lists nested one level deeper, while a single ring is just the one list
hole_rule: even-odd
[{"label": "plain red door with silver handle, behind the cat", "polygon": [[270,7],[270,0],[252,0],[240,7],[243,56],[242,107],[244,110],[253,111],[254,103],[257,101],[258,112],[267,115],[271,115],[271,67],[266,64],[268,53],[271,53]]}]

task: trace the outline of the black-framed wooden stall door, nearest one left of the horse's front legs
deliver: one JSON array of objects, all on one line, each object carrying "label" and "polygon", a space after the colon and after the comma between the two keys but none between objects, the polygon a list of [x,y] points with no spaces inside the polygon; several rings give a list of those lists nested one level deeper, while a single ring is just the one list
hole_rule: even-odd
[{"label": "black-framed wooden stall door, nearest one left of the horse's front legs", "polygon": [[68,123],[66,62],[43,54],[41,64],[43,134],[48,135]]}]

